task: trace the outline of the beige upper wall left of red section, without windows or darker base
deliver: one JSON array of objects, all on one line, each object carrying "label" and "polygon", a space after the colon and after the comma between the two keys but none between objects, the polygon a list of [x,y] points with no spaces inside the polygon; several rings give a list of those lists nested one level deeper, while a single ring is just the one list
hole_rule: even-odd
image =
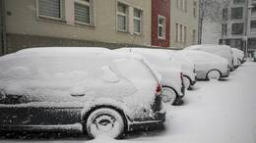
[{"label": "beige upper wall left of red section, without windows or darker base", "polygon": [[[116,10],[120,1],[143,11],[142,34],[117,31]],[[38,18],[37,0],[7,0],[8,34],[25,34],[56,38],[151,45],[151,0],[95,0],[95,25],[74,24],[74,0],[64,0],[64,19],[52,21]],[[129,22],[131,23],[131,22]],[[132,30],[132,27],[129,27]]]}]

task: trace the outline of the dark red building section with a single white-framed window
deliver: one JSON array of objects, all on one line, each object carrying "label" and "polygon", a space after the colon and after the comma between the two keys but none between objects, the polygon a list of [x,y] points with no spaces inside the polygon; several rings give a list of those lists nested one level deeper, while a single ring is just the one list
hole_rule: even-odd
[{"label": "dark red building section with a single white-framed window", "polygon": [[170,0],[152,0],[152,45],[170,45]]}]

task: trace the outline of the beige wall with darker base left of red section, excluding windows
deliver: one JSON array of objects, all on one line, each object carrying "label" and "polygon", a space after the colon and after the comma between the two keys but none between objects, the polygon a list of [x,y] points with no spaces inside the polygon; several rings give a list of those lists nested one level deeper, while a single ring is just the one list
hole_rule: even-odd
[{"label": "beige wall with darker base left of red section, excluding windows", "polygon": [[[74,0],[64,1],[67,4],[74,2]],[[143,10],[142,34],[134,35],[130,32],[116,30],[118,1]],[[69,12],[72,9],[68,9],[68,6],[66,5],[65,8]],[[79,46],[90,46],[92,44],[89,43],[97,42],[100,43],[98,45],[104,43],[111,43],[110,45],[119,45],[119,43],[123,45],[151,45],[151,6],[151,1],[145,2],[145,0],[95,0],[95,26],[88,26],[72,24],[69,21],[59,22],[40,19],[36,14],[36,0],[8,0],[7,36],[9,36],[9,42],[7,46],[9,52],[14,52],[17,50],[16,48],[20,49],[21,47],[62,46],[63,43]],[[66,13],[66,15],[70,17],[70,13]],[[29,40],[32,36],[36,36],[32,39],[37,41]],[[42,41],[45,41],[45,38],[52,41],[51,44],[43,43]],[[55,40],[54,42],[54,39],[61,40]],[[63,41],[64,39],[66,39],[66,42]],[[16,40],[19,40],[21,44]],[[81,42],[76,43],[76,41],[84,42],[82,44]]]}]

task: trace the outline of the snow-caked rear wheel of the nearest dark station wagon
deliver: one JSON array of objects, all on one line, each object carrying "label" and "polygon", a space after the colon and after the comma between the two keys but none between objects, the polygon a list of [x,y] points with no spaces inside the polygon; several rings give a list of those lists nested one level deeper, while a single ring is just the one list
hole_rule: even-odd
[{"label": "snow-caked rear wheel of the nearest dark station wagon", "polygon": [[87,119],[86,129],[89,137],[92,138],[98,135],[119,138],[124,132],[124,119],[115,110],[97,109]]}]

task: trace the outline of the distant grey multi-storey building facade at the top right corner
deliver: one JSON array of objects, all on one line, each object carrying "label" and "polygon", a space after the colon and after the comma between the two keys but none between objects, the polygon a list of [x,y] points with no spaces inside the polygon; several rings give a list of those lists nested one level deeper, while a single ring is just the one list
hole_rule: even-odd
[{"label": "distant grey multi-storey building facade at the top right corner", "polygon": [[246,51],[256,49],[256,1],[232,0],[223,10],[221,44]]}]

